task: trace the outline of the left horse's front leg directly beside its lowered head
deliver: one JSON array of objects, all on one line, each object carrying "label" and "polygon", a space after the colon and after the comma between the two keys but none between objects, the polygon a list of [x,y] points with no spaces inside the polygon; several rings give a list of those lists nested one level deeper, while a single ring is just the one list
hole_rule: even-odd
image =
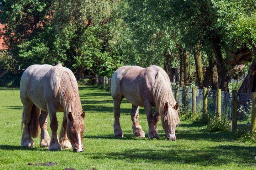
[{"label": "left horse's front leg directly beside its lowered head", "polygon": [[66,114],[64,113],[64,116],[63,116],[63,121],[62,121],[62,126],[61,126],[61,129],[60,129],[60,145],[62,146],[62,148],[65,148],[65,149],[69,149],[72,147],[69,139],[68,139],[68,136],[66,134],[66,126],[67,126],[67,120],[66,120]]}]

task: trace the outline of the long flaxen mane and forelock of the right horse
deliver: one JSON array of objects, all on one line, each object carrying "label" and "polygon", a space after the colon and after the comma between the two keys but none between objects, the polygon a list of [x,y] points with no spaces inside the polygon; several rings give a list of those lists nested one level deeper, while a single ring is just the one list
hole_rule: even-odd
[{"label": "long flaxen mane and forelock of the right horse", "polygon": [[172,94],[171,82],[170,82],[169,76],[167,75],[165,70],[163,70],[162,68],[158,66],[153,66],[153,67],[157,67],[157,70],[158,70],[155,76],[155,84],[153,87],[153,95],[154,95],[154,101],[156,104],[156,109],[161,116],[162,124],[165,123],[164,122],[164,116],[165,116],[164,105],[166,102],[168,102],[169,109],[166,114],[167,121],[169,126],[176,127],[180,123],[180,118],[178,115],[178,111],[174,109],[176,101]]}]

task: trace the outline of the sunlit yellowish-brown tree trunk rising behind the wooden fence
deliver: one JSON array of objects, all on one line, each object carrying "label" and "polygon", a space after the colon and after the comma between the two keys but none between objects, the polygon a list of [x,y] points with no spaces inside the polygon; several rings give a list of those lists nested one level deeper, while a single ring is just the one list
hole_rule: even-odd
[{"label": "sunlit yellowish-brown tree trunk rising behind the wooden fence", "polygon": [[193,51],[193,54],[194,54],[194,60],[195,60],[195,64],[196,64],[198,87],[199,87],[199,89],[202,89],[202,87],[203,87],[203,69],[202,69],[201,52],[199,52],[198,49],[195,49]]}]

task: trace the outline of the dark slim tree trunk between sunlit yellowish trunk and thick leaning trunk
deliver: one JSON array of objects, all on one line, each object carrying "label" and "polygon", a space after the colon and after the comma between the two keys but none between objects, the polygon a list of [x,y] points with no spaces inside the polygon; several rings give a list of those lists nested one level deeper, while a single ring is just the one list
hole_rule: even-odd
[{"label": "dark slim tree trunk between sunlit yellowish trunk and thick leaning trunk", "polygon": [[218,89],[218,69],[215,58],[213,57],[212,52],[207,52],[207,58],[209,62],[209,72],[210,72],[210,84],[213,90]]}]

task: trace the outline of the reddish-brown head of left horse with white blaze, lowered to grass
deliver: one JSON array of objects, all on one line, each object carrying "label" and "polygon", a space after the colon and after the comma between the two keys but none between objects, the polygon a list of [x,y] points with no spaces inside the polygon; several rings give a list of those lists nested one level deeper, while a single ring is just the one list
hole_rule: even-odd
[{"label": "reddish-brown head of left horse with white blaze, lowered to grass", "polygon": [[[80,115],[80,114],[79,114]],[[82,134],[84,132],[85,126],[84,126],[84,117],[85,112],[82,112],[80,115],[79,120],[76,120],[74,123],[74,118],[71,112],[68,114],[69,123],[67,126],[67,135],[71,142],[71,145],[73,147],[74,152],[83,152],[84,146],[82,143]]]}]

